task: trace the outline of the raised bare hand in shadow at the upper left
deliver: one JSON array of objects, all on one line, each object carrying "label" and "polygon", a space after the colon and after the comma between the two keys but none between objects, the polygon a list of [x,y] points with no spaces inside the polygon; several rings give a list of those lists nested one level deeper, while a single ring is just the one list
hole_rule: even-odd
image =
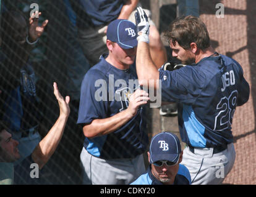
[{"label": "raised bare hand in shadow at the upper left", "polygon": [[[36,18],[35,16],[38,15],[38,18]],[[41,15],[41,12],[38,13],[38,11],[36,10],[29,18],[29,39],[30,42],[34,42],[36,41],[36,39],[38,39],[41,34],[43,34],[43,31],[45,30],[45,27],[48,23],[48,20],[45,20],[41,26],[38,26],[38,19],[39,16]]]}]

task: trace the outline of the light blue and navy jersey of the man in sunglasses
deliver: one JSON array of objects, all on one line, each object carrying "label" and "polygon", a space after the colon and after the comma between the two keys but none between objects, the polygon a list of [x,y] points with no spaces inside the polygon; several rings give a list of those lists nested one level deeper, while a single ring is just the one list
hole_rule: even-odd
[{"label": "light blue and navy jersey of the man in sunglasses", "polygon": [[[176,174],[173,185],[190,185],[191,177],[186,166],[179,164],[179,171]],[[148,172],[140,175],[140,177],[130,185],[163,185],[151,172],[151,167],[148,167]]]}]

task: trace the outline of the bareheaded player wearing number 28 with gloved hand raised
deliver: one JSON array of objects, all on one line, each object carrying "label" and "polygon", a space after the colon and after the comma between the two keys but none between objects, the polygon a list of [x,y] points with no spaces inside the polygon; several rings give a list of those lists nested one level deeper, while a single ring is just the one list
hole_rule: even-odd
[{"label": "bareheaded player wearing number 28 with gloved hand raised", "polygon": [[222,183],[236,158],[231,131],[234,111],[250,94],[241,65],[215,52],[205,24],[190,15],[177,18],[166,31],[173,57],[186,66],[158,71],[148,50],[147,15],[139,7],[135,17],[139,80],[145,86],[154,79],[155,89],[160,80],[162,100],[179,103],[179,131],[187,144],[181,164],[189,169],[192,184]]}]

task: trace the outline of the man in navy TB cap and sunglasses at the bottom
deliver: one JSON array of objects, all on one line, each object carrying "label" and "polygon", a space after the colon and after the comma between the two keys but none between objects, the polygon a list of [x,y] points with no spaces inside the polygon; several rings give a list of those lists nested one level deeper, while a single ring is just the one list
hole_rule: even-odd
[{"label": "man in navy TB cap and sunglasses at the bottom", "polygon": [[175,134],[161,132],[155,135],[148,151],[148,172],[131,185],[189,185],[189,170],[180,164],[182,154],[181,143]]}]

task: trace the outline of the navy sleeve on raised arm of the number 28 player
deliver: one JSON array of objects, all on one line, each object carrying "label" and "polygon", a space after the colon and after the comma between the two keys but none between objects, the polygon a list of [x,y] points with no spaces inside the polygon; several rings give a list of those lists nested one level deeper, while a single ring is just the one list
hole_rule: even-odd
[{"label": "navy sleeve on raised arm of the number 28 player", "polygon": [[161,95],[165,102],[181,102],[191,105],[205,87],[205,76],[195,71],[192,66],[179,70],[160,69]]}]

